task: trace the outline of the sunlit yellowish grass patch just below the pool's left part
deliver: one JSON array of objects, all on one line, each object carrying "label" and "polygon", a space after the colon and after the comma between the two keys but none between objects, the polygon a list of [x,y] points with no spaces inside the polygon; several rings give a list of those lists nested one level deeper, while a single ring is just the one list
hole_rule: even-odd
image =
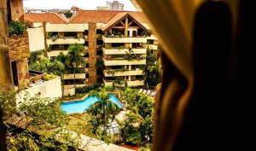
[{"label": "sunlit yellowish grass patch just below the pool's left part", "polygon": [[87,123],[89,119],[86,113],[73,113],[68,115],[69,125],[68,130],[79,132],[86,136],[93,137],[94,135],[90,132],[90,126]]}]

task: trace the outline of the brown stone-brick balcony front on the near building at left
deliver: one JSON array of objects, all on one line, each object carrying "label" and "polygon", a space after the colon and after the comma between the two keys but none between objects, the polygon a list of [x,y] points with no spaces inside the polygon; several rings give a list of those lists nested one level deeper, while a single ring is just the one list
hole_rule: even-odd
[{"label": "brown stone-brick balcony front on the near building at left", "polygon": [[9,38],[9,58],[10,61],[18,61],[29,57],[28,35],[25,32],[22,36],[12,36]]}]

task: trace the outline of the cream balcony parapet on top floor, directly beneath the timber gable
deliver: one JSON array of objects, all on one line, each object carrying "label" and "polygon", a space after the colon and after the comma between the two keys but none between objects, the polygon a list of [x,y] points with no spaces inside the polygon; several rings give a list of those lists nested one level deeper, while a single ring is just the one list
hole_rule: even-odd
[{"label": "cream balcony parapet on top floor, directly beneath the timber gable", "polygon": [[147,37],[102,37],[105,43],[147,43]]}]

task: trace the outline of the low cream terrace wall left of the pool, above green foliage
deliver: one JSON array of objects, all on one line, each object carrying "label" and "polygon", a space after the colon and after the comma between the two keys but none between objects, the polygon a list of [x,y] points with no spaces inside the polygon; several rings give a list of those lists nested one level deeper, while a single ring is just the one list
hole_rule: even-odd
[{"label": "low cream terrace wall left of the pool, above green foliage", "polygon": [[16,104],[19,106],[19,102],[23,102],[23,98],[26,95],[26,92],[29,93],[29,96],[35,96],[40,92],[41,97],[49,97],[49,98],[58,98],[61,97],[61,78],[56,77],[49,81],[45,81],[42,84],[33,85],[32,87],[20,91],[20,93],[16,96]]}]

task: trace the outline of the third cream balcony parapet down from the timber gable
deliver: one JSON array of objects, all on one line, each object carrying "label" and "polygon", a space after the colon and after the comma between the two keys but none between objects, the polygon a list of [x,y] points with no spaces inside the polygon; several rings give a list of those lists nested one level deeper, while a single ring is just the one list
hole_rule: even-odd
[{"label": "third cream balcony parapet down from the timber gable", "polygon": [[124,65],[146,65],[145,60],[134,60],[134,61],[127,61],[127,60],[114,60],[114,59],[104,59],[105,66],[124,66]]}]

